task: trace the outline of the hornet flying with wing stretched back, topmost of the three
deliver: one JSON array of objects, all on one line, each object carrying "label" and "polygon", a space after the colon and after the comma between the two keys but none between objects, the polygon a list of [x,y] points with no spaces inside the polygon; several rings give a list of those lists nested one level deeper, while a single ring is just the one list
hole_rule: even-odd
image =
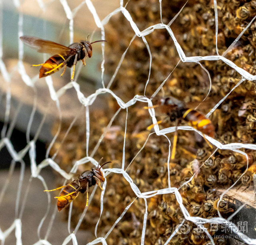
[{"label": "hornet flying with wing stretched back, topmost of the three", "polygon": [[[80,43],[72,43],[68,47],[54,43],[53,41],[43,40],[40,38],[32,37],[32,36],[22,36],[20,39],[29,45],[30,47],[37,49],[38,53],[50,53],[54,54],[50,59],[46,60],[43,64],[32,65],[32,66],[40,66],[39,78],[47,77],[52,75],[59,69],[64,66],[64,71],[60,75],[61,77],[64,75],[66,71],[66,67],[73,67],[73,72],[71,76],[71,81],[74,80],[75,74],[75,65],[77,61],[82,60],[85,65],[85,60],[87,57],[92,57],[92,43],[96,43],[99,40],[90,43],[88,40],[80,41]],[[88,39],[88,36],[87,36]]]}]

